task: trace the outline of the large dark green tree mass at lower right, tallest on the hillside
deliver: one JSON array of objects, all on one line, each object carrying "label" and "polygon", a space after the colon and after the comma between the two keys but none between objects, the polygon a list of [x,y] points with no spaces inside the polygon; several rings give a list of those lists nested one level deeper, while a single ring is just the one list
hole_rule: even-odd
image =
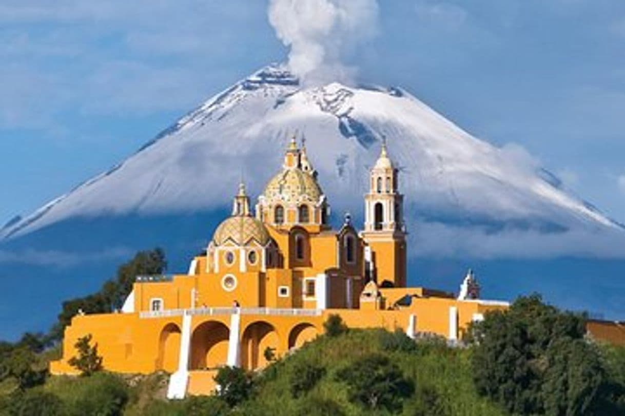
[{"label": "large dark green tree mass at lower right, tallest on the hillside", "polygon": [[486,314],[472,332],[477,390],[510,412],[585,414],[596,399],[604,375],[583,316],[534,295]]}]

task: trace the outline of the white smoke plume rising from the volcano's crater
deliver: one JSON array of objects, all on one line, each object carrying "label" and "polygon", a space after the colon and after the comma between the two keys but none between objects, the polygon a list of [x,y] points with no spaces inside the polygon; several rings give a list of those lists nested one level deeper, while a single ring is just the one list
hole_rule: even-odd
[{"label": "white smoke plume rising from the volcano's crater", "polygon": [[289,68],[304,84],[350,83],[342,62],[377,32],[377,0],[271,0],[269,22],[291,48]]}]

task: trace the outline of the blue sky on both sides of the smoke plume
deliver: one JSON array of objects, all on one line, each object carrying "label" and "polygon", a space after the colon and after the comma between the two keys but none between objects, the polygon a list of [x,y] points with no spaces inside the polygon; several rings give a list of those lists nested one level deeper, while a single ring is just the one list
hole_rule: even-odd
[{"label": "blue sky on both sides of the smoke plume", "polygon": [[[625,222],[625,2],[380,1],[343,56],[477,137],[515,142]],[[3,0],[0,223],[133,153],[288,50],[249,0]]]}]

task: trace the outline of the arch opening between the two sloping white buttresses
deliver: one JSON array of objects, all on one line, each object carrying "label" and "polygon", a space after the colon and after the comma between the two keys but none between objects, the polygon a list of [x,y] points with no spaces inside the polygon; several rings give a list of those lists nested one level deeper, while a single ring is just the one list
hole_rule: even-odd
[{"label": "arch opening between the two sloping white buttresses", "polygon": [[206,321],[191,335],[191,370],[204,370],[226,364],[230,329],[222,322]]}]

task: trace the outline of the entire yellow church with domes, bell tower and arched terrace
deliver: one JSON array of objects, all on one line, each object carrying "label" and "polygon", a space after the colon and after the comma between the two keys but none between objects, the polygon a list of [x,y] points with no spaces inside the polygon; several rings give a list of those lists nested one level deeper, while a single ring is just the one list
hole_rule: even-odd
[{"label": "entire yellow church with domes, bell tower and arched terrace", "polygon": [[268,347],[288,354],[322,334],[331,314],[349,327],[456,342],[470,322],[508,304],[479,299],[470,272],[458,296],[406,287],[403,206],[398,170],[383,143],[369,172],[364,230],[349,215],[333,230],[306,147],[292,138],[253,212],[241,184],[232,215],[186,274],[138,276],[121,311],[75,316],[51,372],[75,374],[68,364],[74,344],[91,334],[105,369],[169,372],[170,399],[210,394],[220,366],[261,369]]}]

